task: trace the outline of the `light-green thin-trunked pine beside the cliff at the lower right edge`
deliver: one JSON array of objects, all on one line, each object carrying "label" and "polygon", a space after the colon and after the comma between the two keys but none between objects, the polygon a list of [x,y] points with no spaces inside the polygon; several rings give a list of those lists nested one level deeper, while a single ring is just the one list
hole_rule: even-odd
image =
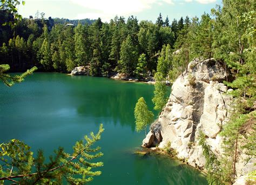
[{"label": "light-green thin-trunked pine beside the cliff at the lower right edge", "polygon": [[238,160],[239,151],[244,150],[248,157],[255,157],[255,123],[256,111],[248,114],[236,112],[232,114],[231,120],[224,125],[223,131],[220,133],[224,138],[222,163],[224,169],[228,171],[226,174],[228,182],[232,182],[235,178],[235,162]]}]

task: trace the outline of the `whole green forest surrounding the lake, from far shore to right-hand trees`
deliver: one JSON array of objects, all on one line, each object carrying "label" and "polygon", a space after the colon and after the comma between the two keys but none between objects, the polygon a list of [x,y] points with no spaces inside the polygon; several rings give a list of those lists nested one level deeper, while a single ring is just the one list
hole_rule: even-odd
[{"label": "whole green forest surrounding the lake, from far shore to right-hand trees", "polygon": [[226,138],[223,159],[215,159],[201,143],[207,154],[208,182],[225,184],[234,180],[230,167],[236,160],[227,156],[235,156],[235,143],[242,138],[248,120],[253,120],[254,132],[243,138],[243,147],[248,155],[256,154],[255,17],[255,1],[223,0],[211,15],[204,13],[200,18],[170,21],[160,13],[155,23],[116,16],[109,23],[98,18],[76,25],[45,19],[41,13],[40,18],[23,18],[12,28],[4,22],[14,20],[14,16],[1,9],[0,64],[10,65],[10,71],[36,66],[38,71],[68,73],[83,65],[90,66],[91,76],[151,75],[156,80],[153,102],[160,111],[167,100],[162,93],[166,79],[172,83],[194,58],[215,58],[232,72],[233,79],[225,84],[233,88],[236,106],[222,131]]}]

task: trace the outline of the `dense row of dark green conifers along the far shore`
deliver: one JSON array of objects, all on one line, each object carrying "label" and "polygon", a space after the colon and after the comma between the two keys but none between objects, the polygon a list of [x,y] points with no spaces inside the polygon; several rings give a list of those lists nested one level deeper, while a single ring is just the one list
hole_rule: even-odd
[{"label": "dense row of dark green conifers along the far shore", "polygon": [[55,24],[55,20],[22,19],[13,31],[2,26],[10,32],[1,38],[1,62],[11,70],[37,66],[44,71],[70,72],[76,66],[89,65],[93,76],[113,71],[144,76],[156,71],[163,45],[174,49],[178,36],[191,24],[188,17],[170,24],[161,14],[155,24],[138,23],[133,16],[127,20],[115,17],[110,23],[98,18],[91,25],[77,26]]}]

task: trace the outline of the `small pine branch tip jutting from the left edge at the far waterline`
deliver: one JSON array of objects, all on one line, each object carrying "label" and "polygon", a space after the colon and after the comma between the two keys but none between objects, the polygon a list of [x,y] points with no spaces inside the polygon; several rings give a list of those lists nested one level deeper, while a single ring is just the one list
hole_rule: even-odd
[{"label": "small pine branch tip jutting from the left edge at the far waterline", "polygon": [[10,66],[8,64],[2,64],[0,65],[0,79],[3,81],[3,83],[6,86],[12,86],[15,83],[21,83],[26,76],[29,74],[32,74],[34,71],[37,70],[37,67],[32,67],[30,70],[27,70],[26,72],[22,73],[21,75],[15,75],[11,76],[10,74],[5,73],[10,69]]}]

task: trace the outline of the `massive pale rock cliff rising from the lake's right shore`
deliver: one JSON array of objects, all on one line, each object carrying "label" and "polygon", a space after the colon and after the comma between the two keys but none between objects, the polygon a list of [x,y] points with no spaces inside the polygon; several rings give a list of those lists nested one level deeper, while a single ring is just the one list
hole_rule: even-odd
[{"label": "massive pale rock cliff rising from the lake's right shore", "polygon": [[[219,132],[229,120],[232,107],[232,97],[225,94],[227,87],[222,83],[226,78],[230,75],[225,67],[213,58],[191,61],[188,72],[181,74],[172,85],[158,125],[152,124],[150,133],[161,135],[160,148],[171,142],[177,157],[187,159],[191,166],[204,168],[205,157],[198,144],[199,131],[203,131],[212,151],[217,156],[221,154]],[[242,175],[241,169],[247,169],[245,165],[242,163],[237,169],[238,176]]]}]

